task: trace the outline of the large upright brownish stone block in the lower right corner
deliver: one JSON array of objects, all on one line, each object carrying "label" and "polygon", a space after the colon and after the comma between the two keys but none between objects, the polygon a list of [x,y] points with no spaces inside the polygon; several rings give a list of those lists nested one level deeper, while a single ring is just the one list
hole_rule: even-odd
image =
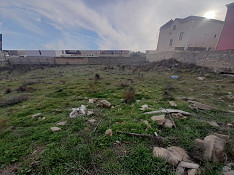
[{"label": "large upright brownish stone block in the lower right corner", "polygon": [[228,138],[226,135],[215,133],[206,136],[204,140],[196,139],[195,146],[202,151],[205,160],[224,163],[227,160],[225,146]]}]

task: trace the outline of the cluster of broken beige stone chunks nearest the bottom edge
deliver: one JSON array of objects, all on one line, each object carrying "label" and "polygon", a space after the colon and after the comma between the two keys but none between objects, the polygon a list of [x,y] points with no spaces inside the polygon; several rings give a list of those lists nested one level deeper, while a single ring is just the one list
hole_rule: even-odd
[{"label": "cluster of broken beige stone chunks nearest the bottom edge", "polygon": [[176,166],[176,174],[184,175],[185,173],[190,175],[200,174],[199,165],[191,162],[188,154],[183,148],[171,146],[167,149],[162,147],[154,147],[153,155],[165,159],[168,163]]}]

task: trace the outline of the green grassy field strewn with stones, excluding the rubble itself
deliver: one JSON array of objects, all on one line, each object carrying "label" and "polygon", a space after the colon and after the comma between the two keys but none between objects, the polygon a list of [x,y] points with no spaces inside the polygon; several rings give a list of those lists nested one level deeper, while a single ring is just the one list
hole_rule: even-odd
[{"label": "green grassy field strewn with stones, excluding the rubble itself", "polygon": [[[101,79],[95,81],[95,74]],[[173,80],[171,75],[179,78]],[[199,81],[198,76],[206,79]],[[23,84],[27,88],[20,91]],[[138,102],[124,103],[129,87],[134,88]],[[140,71],[117,66],[4,70],[0,72],[0,168],[19,174],[175,174],[175,167],[152,152],[154,146],[180,146],[201,165],[202,174],[221,174],[222,164],[198,162],[194,140],[214,132],[231,136],[227,148],[231,160],[234,129],[226,124],[234,121],[234,114],[225,112],[234,110],[233,101],[226,98],[231,93],[233,78],[196,70]],[[11,99],[18,96],[25,98],[13,104]],[[192,110],[185,100],[188,97],[215,109]],[[91,98],[106,99],[114,108],[90,104]],[[170,100],[178,106],[171,107]],[[71,108],[82,104],[93,109],[94,115],[70,119]],[[195,115],[175,119],[176,128],[164,128],[151,120],[152,115],[143,114],[140,107],[144,104],[149,105],[147,111],[175,108]],[[45,120],[32,118],[37,113]],[[90,124],[89,119],[96,122]],[[147,129],[143,120],[152,128]],[[52,132],[50,128],[61,121],[67,124],[59,126],[61,131]],[[215,121],[220,127],[204,121]],[[105,136],[107,129],[113,130],[112,137]],[[157,132],[165,141],[157,143],[117,131]]]}]

